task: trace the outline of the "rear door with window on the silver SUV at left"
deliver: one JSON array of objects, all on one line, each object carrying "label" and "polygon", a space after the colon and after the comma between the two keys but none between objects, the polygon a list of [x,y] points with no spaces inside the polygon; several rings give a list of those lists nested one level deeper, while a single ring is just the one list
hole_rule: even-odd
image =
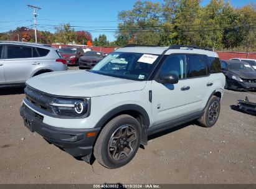
[{"label": "rear door with window on the silver SUV at left", "polygon": [[7,45],[7,58],[4,65],[6,83],[25,83],[40,62],[32,58],[38,57],[36,49],[26,45]]}]

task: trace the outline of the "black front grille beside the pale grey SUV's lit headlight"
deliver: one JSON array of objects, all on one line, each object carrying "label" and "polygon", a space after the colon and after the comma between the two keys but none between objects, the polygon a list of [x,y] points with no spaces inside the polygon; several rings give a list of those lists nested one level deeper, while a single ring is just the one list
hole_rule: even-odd
[{"label": "black front grille beside the pale grey SUV's lit headlight", "polygon": [[31,87],[27,86],[25,88],[26,99],[37,106],[40,109],[44,109],[49,113],[53,113],[52,108],[49,106],[49,103],[53,101],[52,96],[42,93],[40,91],[34,90]]}]

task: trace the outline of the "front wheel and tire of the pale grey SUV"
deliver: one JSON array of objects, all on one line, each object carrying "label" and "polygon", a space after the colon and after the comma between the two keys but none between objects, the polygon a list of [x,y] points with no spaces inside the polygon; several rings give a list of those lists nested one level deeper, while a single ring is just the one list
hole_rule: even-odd
[{"label": "front wheel and tire of the pale grey SUV", "polygon": [[129,115],[113,118],[103,127],[93,148],[100,164],[107,168],[119,168],[135,156],[141,142],[141,126]]}]

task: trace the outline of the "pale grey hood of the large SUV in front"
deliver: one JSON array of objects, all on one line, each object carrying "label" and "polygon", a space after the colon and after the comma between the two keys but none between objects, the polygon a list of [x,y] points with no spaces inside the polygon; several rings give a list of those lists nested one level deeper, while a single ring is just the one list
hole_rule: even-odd
[{"label": "pale grey hood of the large SUV in front", "polygon": [[125,80],[78,70],[44,73],[26,83],[36,90],[58,96],[93,97],[143,90],[146,81]]}]

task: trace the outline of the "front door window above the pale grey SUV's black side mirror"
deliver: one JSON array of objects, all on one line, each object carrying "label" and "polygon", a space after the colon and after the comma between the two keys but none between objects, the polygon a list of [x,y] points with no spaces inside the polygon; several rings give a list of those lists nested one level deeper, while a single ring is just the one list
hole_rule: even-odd
[{"label": "front door window above the pale grey SUV's black side mirror", "polygon": [[186,77],[186,55],[169,55],[164,60],[160,75],[174,73],[179,79]]}]

